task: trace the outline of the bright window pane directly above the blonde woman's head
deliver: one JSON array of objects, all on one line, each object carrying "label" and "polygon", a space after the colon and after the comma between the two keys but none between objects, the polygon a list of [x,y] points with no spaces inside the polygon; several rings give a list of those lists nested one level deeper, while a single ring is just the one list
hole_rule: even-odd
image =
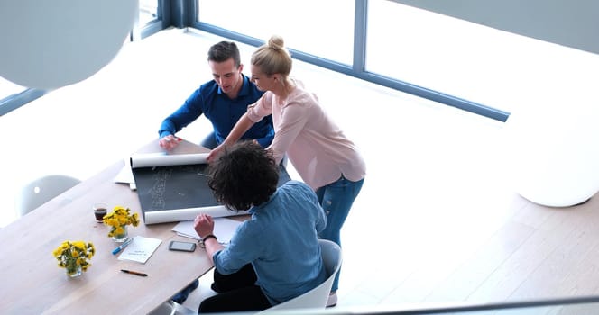
[{"label": "bright window pane directly above the blonde woman's head", "polygon": [[[224,8],[227,8],[224,10]],[[198,0],[198,21],[351,65],[355,4],[347,0]]]}]

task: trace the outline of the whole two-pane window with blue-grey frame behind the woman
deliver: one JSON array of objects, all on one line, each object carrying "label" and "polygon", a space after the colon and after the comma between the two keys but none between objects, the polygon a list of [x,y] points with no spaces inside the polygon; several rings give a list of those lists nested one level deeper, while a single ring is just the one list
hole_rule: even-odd
[{"label": "whole two-pane window with blue-grey frame behind the woman", "polygon": [[196,10],[199,30],[250,45],[279,33],[300,51],[295,58],[499,121],[599,63],[596,54],[387,0],[197,0]]}]

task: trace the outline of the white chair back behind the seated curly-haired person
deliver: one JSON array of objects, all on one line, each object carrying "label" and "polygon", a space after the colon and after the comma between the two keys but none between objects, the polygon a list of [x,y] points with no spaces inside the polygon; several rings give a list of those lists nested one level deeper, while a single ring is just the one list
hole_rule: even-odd
[{"label": "white chair back behind the seated curly-haired person", "polygon": [[277,304],[261,313],[295,309],[324,309],[327,307],[328,294],[341,267],[341,248],[327,239],[318,239],[318,245],[327,269],[327,280],[307,293],[303,293],[287,302]]}]

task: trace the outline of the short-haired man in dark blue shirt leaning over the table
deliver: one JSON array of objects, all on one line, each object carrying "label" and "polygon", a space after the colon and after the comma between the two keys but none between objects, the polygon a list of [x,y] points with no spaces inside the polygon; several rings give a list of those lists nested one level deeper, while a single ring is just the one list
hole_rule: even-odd
[{"label": "short-haired man in dark blue shirt leaning over the table", "polygon": [[[178,144],[175,133],[198,119],[203,113],[212,123],[213,132],[200,145],[216,148],[235,123],[263,94],[244,76],[239,49],[235,42],[221,41],[208,50],[208,65],[214,80],[207,82],[189,96],[183,105],[161,123],[158,130],[161,148],[170,150]],[[263,148],[274,138],[272,116],[265,117],[245,132],[242,139],[255,139]]]}]

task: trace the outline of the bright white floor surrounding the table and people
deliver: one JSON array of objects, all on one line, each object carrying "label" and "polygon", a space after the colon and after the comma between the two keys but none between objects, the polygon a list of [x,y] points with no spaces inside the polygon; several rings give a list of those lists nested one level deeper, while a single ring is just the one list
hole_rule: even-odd
[{"label": "bright white floor surrounding the table and people", "polygon": [[[207,48],[218,40],[161,31],[125,45],[96,76],[0,117],[0,226],[15,219],[26,181],[85,179],[156,139],[161,120],[211,78]],[[249,73],[254,48],[241,48]],[[551,209],[521,198],[502,122],[299,61],[293,72],[368,166],[342,231],[337,310],[599,293],[599,201]],[[209,129],[202,119],[180,136],[199,142]],[[186,304],[197,307],[208,282]]]}]

